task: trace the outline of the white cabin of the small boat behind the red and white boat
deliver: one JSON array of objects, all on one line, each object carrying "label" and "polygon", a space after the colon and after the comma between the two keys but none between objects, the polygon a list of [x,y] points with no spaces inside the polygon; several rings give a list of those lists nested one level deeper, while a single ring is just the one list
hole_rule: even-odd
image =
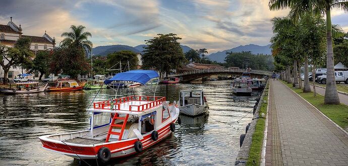
[{"label": "white cabin of the small boat behind the red and white boat", "polygon": [[[183,102],[184,101],[184,102]],[[203,90],[181,90],[179,95],[180,106],[189,104],[204,105]]]}]

